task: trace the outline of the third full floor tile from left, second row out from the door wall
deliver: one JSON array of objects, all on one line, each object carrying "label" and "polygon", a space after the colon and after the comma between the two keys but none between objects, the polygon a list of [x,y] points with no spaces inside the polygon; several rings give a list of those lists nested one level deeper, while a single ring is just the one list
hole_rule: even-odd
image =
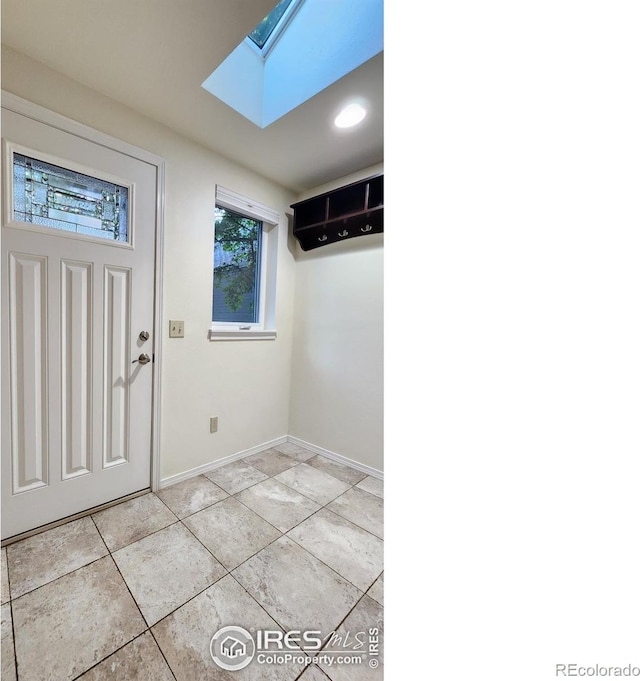
[{"label": "third full floor tile from left, second row out from the door wall", "polygon": [[183,522],[227,570],[233,570],[280,536],[275,527],[233,497]]}]

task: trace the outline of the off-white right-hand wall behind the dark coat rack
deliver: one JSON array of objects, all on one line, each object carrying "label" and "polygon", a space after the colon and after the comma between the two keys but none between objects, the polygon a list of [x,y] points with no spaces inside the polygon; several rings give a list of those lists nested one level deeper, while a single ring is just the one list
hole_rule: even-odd
[{"label": "off-white right-hand wall behind the dark coat rack", "polygon": [[[296,200],[382,172],[317,187]],[[296,253],[289,434],[383,469],[383,236]]]}]

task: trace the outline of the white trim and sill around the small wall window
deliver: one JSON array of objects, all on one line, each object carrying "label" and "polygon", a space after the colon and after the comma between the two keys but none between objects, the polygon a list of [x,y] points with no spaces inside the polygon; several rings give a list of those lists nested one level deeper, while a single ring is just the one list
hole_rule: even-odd
[{"label": "white trim and sill around the small wall window", "polygon": [[[260,260],[260,321],[256,324],[211,322],[209,340],[275,340],[275,282],[280,214],[273,208],[254,201],[231,189],[216,185],[216,206],[228,208],[262,222]],[[213,284],[213,282],[212,282]],[[211,287],[213,291],[213,285]]]}]

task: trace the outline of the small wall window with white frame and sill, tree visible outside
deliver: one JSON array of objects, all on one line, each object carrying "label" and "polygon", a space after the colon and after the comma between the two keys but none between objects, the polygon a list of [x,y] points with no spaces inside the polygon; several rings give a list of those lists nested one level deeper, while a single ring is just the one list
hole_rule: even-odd
[{"label": "small wall window with white frame and sill, tree visible outside", "polygon": [[216,188],[211,340],[274,339],[279,215]]}]

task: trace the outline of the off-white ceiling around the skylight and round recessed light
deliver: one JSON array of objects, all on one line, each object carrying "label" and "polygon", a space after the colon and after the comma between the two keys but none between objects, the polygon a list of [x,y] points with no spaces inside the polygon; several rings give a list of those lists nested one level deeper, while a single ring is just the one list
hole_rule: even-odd
[{"label": "off-white ceiling around the skylight and round recessed light", "polygon": [[[2,0],[2,42],[296,192],[381,163],[383,53],[262,130],[201,87],[275,2]],[[352,96],[369,115],[339,133]]]}]

